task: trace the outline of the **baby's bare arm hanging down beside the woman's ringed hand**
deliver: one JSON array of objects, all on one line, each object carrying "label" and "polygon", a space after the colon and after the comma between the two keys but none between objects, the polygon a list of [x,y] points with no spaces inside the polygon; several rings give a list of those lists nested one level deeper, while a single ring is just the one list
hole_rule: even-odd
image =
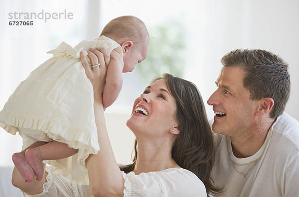
[{"label": "baby's bare arm hanging down beside the woman's ringed hand", "polygon": [[111,52],[110,57],[111,59],[107,68],[106,84],[103,91],[104,109],[109,107],[116,100],[123,86],[123,58],[116,50]]}]

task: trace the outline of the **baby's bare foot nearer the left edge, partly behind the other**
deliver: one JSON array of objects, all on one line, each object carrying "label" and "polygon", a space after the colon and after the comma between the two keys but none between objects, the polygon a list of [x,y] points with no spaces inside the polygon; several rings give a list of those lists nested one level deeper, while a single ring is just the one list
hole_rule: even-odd
[{"label": "baby's bare foot nearer the left edge, partly behind the other", "polygon": [[31,166],[27,163],[25,155],[23,153],[14,153],[12,155],[12,161],[19,171],[21,176],[24,178],[25,183],[33,181],[35,175]]}]

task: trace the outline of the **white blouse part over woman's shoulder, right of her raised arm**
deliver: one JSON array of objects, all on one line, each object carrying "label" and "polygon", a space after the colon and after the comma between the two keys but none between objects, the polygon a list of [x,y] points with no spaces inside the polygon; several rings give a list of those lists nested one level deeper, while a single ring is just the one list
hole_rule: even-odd
[{"label": "white blouse part over woman's shoulder, right of her raised arm", "polygon": [[203,183],[192,172],[170,168],[160,172],[135,175],[123,173],[124,197],[206,197]]}]

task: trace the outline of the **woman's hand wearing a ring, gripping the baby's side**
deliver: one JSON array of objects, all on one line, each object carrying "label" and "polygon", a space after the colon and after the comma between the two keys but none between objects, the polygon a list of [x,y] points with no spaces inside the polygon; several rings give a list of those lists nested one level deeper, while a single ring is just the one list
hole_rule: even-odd
[{"label": "woman's hand wearing a ring, gripping the baby's side", "polygon": [[80,52],[80,59],[84,67],[87,78],[90,80],[94,98],[102,101],[103,89],[106,81],[107,65],[110,61],[110,56],[104,49],[89,49],[87,57],[90,59],[92,65],[100,64],[97,67],[90,67],[84,51]]}]

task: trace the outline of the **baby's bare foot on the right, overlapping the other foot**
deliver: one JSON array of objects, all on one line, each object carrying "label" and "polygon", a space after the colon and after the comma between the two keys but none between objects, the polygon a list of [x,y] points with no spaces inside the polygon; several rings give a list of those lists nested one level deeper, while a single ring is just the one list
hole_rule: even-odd
[{"label": "baby's bare foot on the right, overlapping the other foot", "polygon": [[44,168],[42,165],[42,159],[41,156],[37,150],[37,148],[30,148],[26,150],[25,157],[28,162],[28,164],[33,169],[36,179],[40,181],[44,174]]}]

